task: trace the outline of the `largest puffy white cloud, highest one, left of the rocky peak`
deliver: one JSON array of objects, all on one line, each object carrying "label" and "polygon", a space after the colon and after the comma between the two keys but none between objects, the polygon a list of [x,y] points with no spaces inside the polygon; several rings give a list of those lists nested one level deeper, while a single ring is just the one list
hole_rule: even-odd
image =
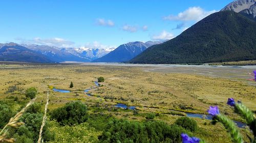
[{"label": "largest puffy white cloud, highest one, left of the rocky peak", "polygon": [[200,21],[206,16],[217,12],[216,10],[205,11],[200,7],[190,7],[187,10],[180,12],[178,15],[169,15],[163,17],[164,20],[177,20],[177,21]]}]

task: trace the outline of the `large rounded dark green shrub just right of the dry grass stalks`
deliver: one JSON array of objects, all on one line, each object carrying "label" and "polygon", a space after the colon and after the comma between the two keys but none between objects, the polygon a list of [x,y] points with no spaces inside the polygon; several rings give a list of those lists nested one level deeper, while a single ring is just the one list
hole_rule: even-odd
[{"label": "large rounded dark green shrub just right of the dry grass stalks", "polygon": [[81,101],[67,103],[51,112],[51,118],[56,119],[60,125],[74,125],[83,123],[88,119],[87,106]]}]

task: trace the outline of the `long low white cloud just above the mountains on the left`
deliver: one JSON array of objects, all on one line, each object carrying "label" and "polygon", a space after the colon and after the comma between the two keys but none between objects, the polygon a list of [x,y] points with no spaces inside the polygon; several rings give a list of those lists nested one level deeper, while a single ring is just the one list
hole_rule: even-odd
[{"label": "long low white cloud just above the mountains on the left", "polygon": [[16,38],[15,40],[20,41],[22,44],[36,44],[36,45],[48,45],[48,46],[55,46],[55,47],[73,47],[74,42],[68,41],[62,38],[49,38],[49,39],[41,39],[36,37],[34,39],[22,39]]}]

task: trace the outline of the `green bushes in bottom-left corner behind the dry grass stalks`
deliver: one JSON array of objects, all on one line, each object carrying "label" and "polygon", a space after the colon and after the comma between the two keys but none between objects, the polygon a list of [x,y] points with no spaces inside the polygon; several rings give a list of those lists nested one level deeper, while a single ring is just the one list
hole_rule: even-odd
[{"label": "green bushes in bottom-left corner behind the dry grass stalks", "polygon": [[[20,105],[20,106],[17,106]],[[0,128],[3,128],[12,118],[16,111],[23,108],[25,102],[17,102],[12,100],[5,100],[0,102]],[[18,107],[18,109],[16,109]],[[32,143],[37,142],[39,136],[39,130],[42,123],[43,113],[41,111],[41,104],[34,103],[28,110],[19,118],[19,122],[25,123],[24,125],[18,128],[8,128],[7,138],[15,138],[18,143]],[[54,133],[49,132],[48,123],[46,123],[42,137],[44,141],[49,141],[54,139]]]}]

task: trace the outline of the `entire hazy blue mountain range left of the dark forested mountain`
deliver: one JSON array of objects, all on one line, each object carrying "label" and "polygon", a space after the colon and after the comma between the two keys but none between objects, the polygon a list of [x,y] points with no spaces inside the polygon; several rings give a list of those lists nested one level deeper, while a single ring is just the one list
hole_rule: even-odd
[{"label": "entire hazy blue mountain range left of the dark forested mountain", "polygon": [[[0,44],[0,61],[59,63],[74,62],[125,62],[147,47],[161,42],[130,42],[115,48],[60,48],[47,45]],[[102,57],[103,56],[103,57]],[[102,57],[102,58],[101,58]],[[108,59],[108,60],[106,60]]]}]

